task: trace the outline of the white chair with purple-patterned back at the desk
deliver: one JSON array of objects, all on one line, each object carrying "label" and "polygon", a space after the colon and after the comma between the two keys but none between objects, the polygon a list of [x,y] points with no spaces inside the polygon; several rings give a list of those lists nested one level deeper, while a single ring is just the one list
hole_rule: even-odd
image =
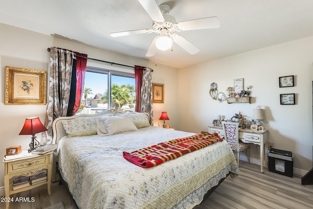
[{"label": "white chair with purple-patterned back at the desk", "polygon": [[237,151],[237,164],[239,166],[239,155],[241,151],[246,150],[248,161],[250,163],[250,144],[244,143],[239,139],[238,124],[237,122],[222,121],[224,138],[229,143],[231,149]]}]

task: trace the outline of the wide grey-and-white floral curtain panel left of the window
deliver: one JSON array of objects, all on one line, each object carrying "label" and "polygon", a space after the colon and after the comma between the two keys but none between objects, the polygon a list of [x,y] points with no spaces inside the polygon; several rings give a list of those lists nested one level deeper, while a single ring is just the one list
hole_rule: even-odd
[{"label": "wide grey-and-white floral curtain panel left of the window", "polygon": [[45,116],[45,127],[40,144],[52,142],[52,121],[61,116],[67,116],[67,106],[70,94],[72,64],[75,54],[72,51],[51,47],[50,75],[48,87],[48,104]]}]

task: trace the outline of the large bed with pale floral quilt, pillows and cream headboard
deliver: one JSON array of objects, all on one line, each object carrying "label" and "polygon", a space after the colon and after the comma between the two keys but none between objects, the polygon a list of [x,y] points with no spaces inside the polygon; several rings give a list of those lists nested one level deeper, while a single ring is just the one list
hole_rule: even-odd
[{"label": "large bed with pale floral quilt, pillows and cream headboard", "polygon": [[55,119],[53,143],[58,148],[52,179],[59,169],[81,209],[187,209],[200,204],[228,174],[240,174],[226,141],[151,168],[127,161],[124,151],[196,134],[150,126],[148,121],[148,114],[120,111]]}]

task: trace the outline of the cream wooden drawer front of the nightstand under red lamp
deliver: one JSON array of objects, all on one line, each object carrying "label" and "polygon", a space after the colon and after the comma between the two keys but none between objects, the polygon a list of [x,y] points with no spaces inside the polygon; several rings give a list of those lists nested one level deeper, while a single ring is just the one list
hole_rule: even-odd
[{"label": "cream wooden drawer front of the nightstand under red lamp", "polygon": [[17,161],[17,162],[10,162],[8,163],[8,169],[10,173],[14,172],[20,172],[20,171],[25,171],[34,169],[36,167],[41,167],[49,164],[49,159],[48,155],[45,156],[38,156],[36,158],[30,158],[30,159],[25,159],[22,162]]}]

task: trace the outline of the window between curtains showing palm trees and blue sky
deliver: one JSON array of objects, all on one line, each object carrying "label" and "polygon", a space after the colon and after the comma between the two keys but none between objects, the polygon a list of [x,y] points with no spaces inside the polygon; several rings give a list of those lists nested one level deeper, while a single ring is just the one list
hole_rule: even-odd
[{"label": "window between curtains showing palm trees and blue sky", "polygon": [[132,112],[134,105],[134,73],[87,66],[78,114],[95,114],[112,108]]}]

